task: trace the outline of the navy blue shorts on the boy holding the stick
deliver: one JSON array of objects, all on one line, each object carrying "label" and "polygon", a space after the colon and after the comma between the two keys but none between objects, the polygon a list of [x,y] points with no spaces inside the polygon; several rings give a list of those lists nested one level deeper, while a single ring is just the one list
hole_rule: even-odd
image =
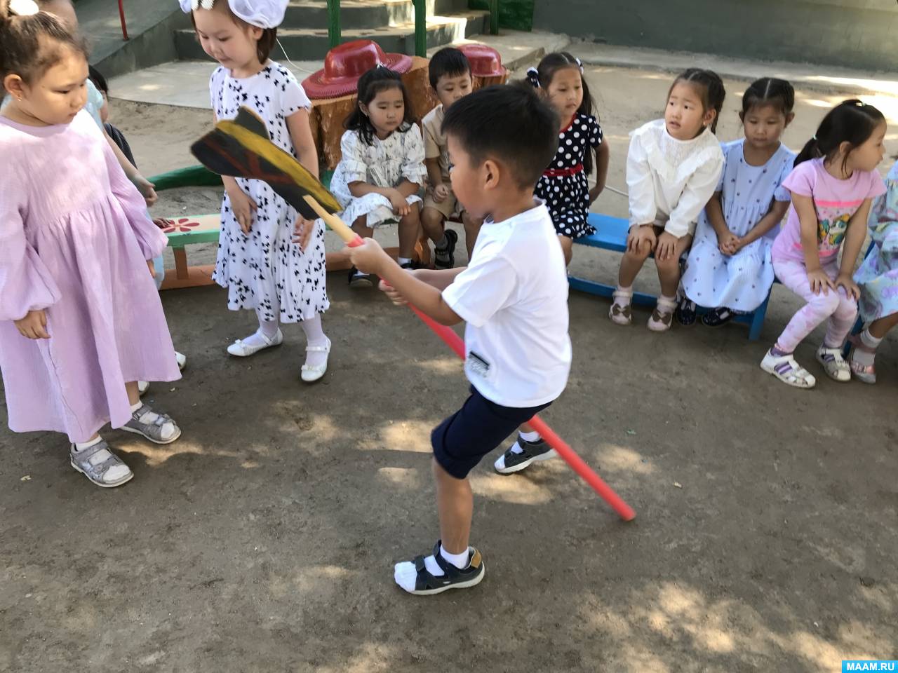
[{"label": "navy blue shorts on the boy holding the stick", "polygon": [[497,405],[471,387],[471,397],[462,408],[430,434],[434,458],[450,475],[463,479],[484,456],[514,433],[518,425],[550,404],[524,408]]}]

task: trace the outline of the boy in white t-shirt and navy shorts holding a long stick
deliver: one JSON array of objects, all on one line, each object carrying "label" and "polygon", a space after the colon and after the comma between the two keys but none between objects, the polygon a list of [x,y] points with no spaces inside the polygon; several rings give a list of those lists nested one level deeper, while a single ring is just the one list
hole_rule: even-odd
[{"label": "boy in white t-shirt and navy shorts holding a long stick", "polygon": [[555,155],[559,121],[530,87],[471,93],[446,112],[453,192],[483,223],[471,266],[403,271],[374,239],[347,249],[380,275],[394,303],[410,302],[443,325],[465,320],[471,397],[431,435],[441,541],[432,555],[396,564],[402,589],[433,594],[483,579],[468,546],[468,473],[559,397],[568,382],[568,276],[558,236],[533,186]]}]

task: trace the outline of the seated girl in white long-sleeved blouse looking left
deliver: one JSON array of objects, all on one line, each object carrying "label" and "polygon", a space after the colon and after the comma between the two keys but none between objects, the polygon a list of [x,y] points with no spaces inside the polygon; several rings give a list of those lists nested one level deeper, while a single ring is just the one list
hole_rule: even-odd
[{"label": "seated girl in white long-sleeved blouse looking left", "polygon": [[701,210],[717,187],[724,157],[714,131],[724,83],[710,70],[690,68],[674,80],[665,117],[632,134],[627,154],[629,236],[609,317],[632,321],[633,281],[655,253],[661,296],[648,328],[670,329],[680,284],[680,257],[689,249]]}]

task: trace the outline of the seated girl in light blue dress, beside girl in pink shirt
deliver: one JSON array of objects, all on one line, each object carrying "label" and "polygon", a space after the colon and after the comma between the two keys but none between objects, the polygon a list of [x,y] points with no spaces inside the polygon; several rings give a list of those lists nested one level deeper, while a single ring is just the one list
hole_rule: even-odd
[{"label": "seated girl in light blue dress, beside girl in pink shirt", "polygon": [[795,92],[784,80],[765,77],[744,93],[744,138],[722,145],[726,163],[717,191],[699,219],[682,276],[685,294],[677,319],[691,325],[696,304],[709,310],[708,327],[757,309],[770,293],[770,248],[789,205],[780,185],[795,153],[779,137],[795,114]]}]

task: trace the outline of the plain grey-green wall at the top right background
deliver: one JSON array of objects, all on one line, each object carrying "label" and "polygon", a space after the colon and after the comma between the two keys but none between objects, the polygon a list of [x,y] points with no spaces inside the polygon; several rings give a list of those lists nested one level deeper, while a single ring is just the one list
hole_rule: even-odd
[{"label": "plain grey-green wall at the top right background", "polygon": [[533,28],[609,44],[898,70],[895,0],[536,0]]}]

